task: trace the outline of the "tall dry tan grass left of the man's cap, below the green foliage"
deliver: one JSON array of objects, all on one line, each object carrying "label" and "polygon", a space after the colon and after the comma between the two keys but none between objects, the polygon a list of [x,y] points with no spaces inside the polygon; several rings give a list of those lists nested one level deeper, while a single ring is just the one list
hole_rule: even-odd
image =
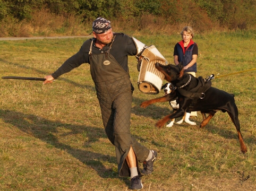
[{"label": "tall dry tan grass left of the man's cap, below the green foliage", "polygon": [[85,36],[91,32],[91,25],[83,24],[74,15],[56,15],[49,10],[35,11],[31,20],[6,17],[0,24],[0,37]]}]

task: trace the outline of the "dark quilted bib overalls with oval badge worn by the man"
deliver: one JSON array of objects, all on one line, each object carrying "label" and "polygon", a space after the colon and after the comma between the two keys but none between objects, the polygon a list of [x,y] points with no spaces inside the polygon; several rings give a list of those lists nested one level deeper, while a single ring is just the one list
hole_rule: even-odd
[{"label": "dark quilted bib overalls with oval badge worn by the man", "polygon": [[111,49],[108,48],[108,51],[102,54],[93,54],[90,48],[91,76],[95,82],[106,134],[110,142],[115,145],[118,174],[119,176],[130,176],[125,158],[132,146],[140,175],[138,161],[143,162],[148,157],[149,150],[131,136],[132,91],[130,77],[109,54],[109,50]]}]

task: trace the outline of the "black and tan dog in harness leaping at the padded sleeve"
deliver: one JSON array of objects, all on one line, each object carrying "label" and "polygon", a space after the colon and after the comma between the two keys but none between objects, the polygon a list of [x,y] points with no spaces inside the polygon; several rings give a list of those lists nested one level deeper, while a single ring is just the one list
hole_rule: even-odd
[{"label": "black and tan dog in harness leaping at the padded sleeve", "polygon": [[234,94],[229,94],[223,90],[213,88],[210,81],[202,79],[202,77],[193,77],[190,74],[184,73],[183,64],[175,65],[161,65],[156,63],[156,68],[165,75],[165,80],[174,85],[175,91],[164,97],[144,101],[141,107],[145,108],[153,102],[163,102],[172,100],[178,97],[180,104],[177,112],[165,116],[156,124],[157,127],[163,127],[167,121],[173,118],[181,117],[186,111],[201,111],[209,114],[203,119],[200,127],[204,127],[208,121],[215,115],[218,110],[227,112],[233,121],[238,139],[241,146],[242,153],[247,152],[246,145],[244,144],[242,134],[240,132],[240,121],[238,119],[238,109],[235,104]]}]

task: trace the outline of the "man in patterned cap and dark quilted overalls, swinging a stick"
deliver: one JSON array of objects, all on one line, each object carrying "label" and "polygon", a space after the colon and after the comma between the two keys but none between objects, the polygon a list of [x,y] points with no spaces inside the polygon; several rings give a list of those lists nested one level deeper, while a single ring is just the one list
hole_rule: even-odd
[{"label": "man in patterned cap and dark quilted overalls, swinging a stick", "polygon": [[131,37],[112,31],[110,21],[98,18],[92,23],[94,38],[86,40],[78,53],[67,59],[52,75],[45,76],[51,83],[58,76],[70,72],[83,63],[90,64],[95,83],[105,132],[115,145],[118,175],[131,177],[131,189],[140,190],[142,173],[153,171],[157,152],[138,143],[130,133],[133,86],[130,81],[128,56],[138,55]]}]

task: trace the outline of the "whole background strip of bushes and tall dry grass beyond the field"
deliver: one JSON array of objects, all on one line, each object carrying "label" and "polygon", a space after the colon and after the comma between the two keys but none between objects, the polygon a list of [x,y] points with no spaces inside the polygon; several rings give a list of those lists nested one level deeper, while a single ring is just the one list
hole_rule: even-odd
[{"label": "whole background strip of bushes and tall dry grass beyond the field", "polygon": [[0,36],[88,34],[99,16],[119,31],[248,30],[256,26],[255,9],[254,0],[10,0],[0,2]]}]

